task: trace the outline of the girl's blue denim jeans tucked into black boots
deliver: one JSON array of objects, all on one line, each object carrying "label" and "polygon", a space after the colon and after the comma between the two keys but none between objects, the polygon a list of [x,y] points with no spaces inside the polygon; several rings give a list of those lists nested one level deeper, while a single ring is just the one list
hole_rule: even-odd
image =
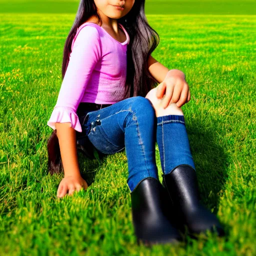
[{"label": "girl's blue denim jeans tucked into black boots", "polygon": [[82,129],[104,154],[125,149],[130,191],[144,178],[158,179],[155,142],[164,174],[180,164],[195,169],[183,115],[155,116],[147,98],[135,96],[86,113]]}]

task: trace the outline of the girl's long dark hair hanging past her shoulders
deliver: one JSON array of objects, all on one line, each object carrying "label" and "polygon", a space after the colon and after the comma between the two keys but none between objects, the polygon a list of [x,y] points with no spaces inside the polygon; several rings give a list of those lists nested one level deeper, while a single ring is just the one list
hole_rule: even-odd
[{"label": "girl's long dark hair hanging past her shoulders", "polygon": [[[127,75],[125,86],[130,88],[130,97],[143,96],[156,85],[157,80],[148,71],[147,60],[149,55],[159,44],[157,32],[148,24],[145,11],[145,0],[135,0],[130,11],[118,19],[129,34],[127,45]],[[62,60],[62,79],[69,62],[72,40],[77,28],[86,22],[92,15],[96,15],[98,22],[102,20],[97,12],[94,0],[80,0],[74,23],[68,33],[64,44]],[[48,170],[61,172],[63,170],[56,129],[47,141]]]}]

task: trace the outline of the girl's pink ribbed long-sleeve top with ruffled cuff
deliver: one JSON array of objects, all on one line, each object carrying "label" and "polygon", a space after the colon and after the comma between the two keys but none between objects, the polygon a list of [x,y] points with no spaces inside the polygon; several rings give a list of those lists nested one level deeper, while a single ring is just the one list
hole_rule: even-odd
[{"label": "girl's pink ribbed long-sleeve top with ruffled cuff", "polygon": [[70,122],[81,132],[76,114],[80,102],[113,104],[129,96],[125,89],[129,35],[120,23],[118,26],[126,35],[124,42],[92,22],[77,28],[57,102],[47,121],[52,129],[56,122]]}]

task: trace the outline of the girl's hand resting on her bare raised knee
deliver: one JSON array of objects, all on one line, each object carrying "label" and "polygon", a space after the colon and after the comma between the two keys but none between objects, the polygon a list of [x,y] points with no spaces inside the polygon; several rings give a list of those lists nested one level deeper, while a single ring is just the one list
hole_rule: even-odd
[{"label": "girl's hand resting on her bare raised knee", "polygon": [[162,107],[176,103],[178,107],[190,100],[188,84],[180,75],[166,75],[165,79],[157,85],[156,97],[162,98]]}]

